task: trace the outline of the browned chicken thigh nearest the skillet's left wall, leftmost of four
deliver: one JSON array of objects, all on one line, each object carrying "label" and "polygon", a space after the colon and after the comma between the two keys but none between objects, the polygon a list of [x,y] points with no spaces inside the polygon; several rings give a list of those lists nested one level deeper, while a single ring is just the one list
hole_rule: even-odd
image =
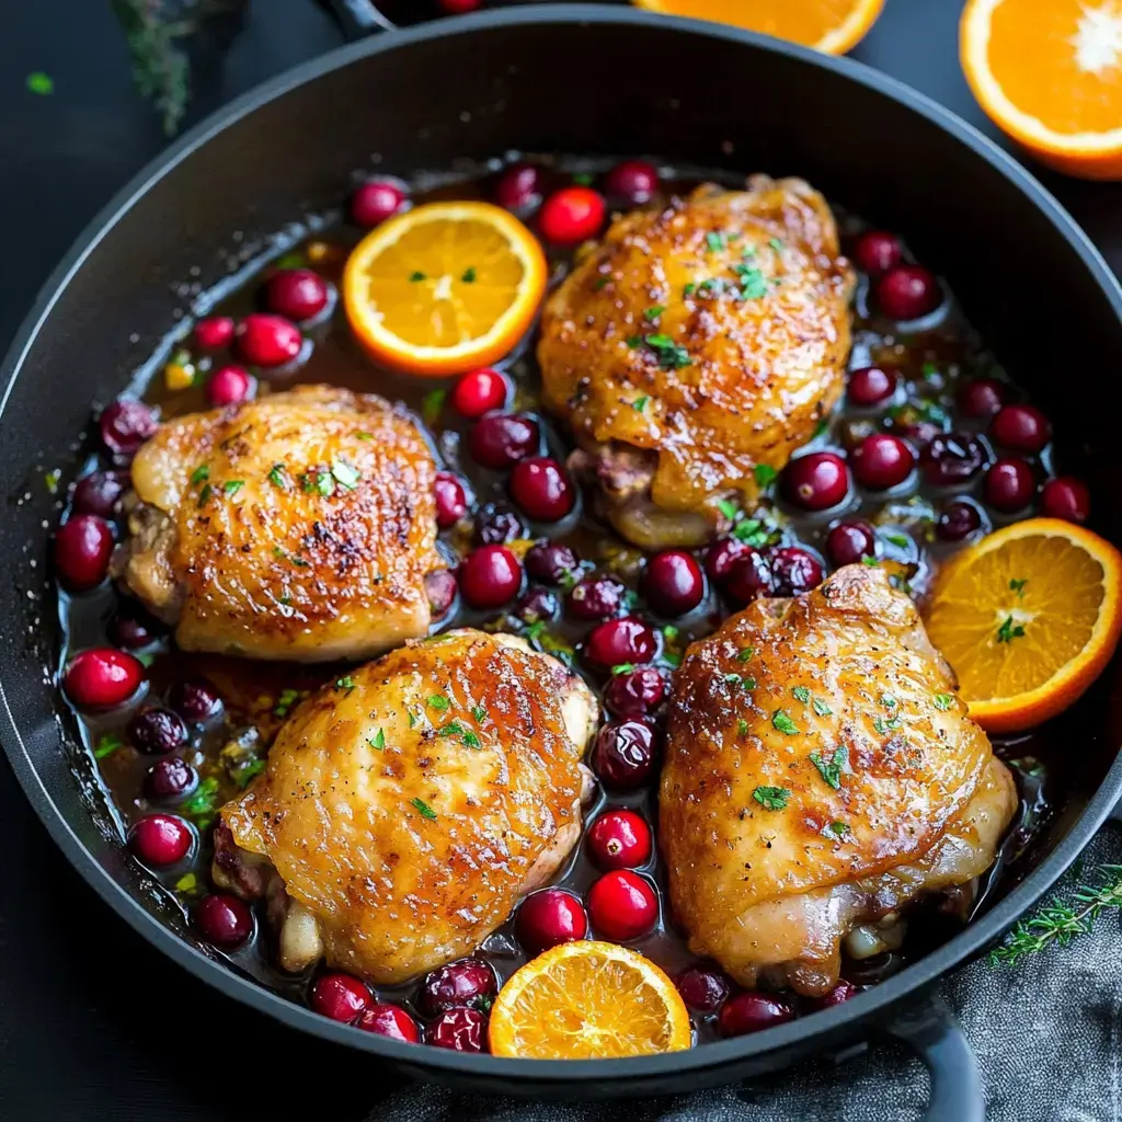
[{"label": "browned chicken thigh nearest the skillet's left wall, leftmost of four", "polygon": [[134,461],[114,570],[186,651],[369,656],[429,628],[434,477],[373,395],[303,386],[178,417]]}]

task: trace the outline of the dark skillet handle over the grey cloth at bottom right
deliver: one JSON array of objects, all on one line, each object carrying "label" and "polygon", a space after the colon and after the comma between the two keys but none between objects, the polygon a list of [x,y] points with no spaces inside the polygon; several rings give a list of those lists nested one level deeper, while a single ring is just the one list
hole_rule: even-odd
[{"label": "dark skillet handle over the grey cloth at bottom right", "polygon": [[931,1101],[925,1122],[985,1122],[978,1061],[958,1019],[941,997],[926,997],[893,1018],[883,1031],[908,1045],[927,1067]]}]

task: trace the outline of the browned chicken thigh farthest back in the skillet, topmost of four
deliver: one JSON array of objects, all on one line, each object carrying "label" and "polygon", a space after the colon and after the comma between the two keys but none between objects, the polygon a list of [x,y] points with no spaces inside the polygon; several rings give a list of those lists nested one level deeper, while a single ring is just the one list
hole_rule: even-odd
[{"label": "browned chicken thigh farthest back in the skillet, topmost of four", "polygon": [[700,544],[723,496],[753,498],[755,466],[811,438],[842,394],[853,285],[801,180],[702,186],[613,222],[548,301],[537,357],[619,533]]}]

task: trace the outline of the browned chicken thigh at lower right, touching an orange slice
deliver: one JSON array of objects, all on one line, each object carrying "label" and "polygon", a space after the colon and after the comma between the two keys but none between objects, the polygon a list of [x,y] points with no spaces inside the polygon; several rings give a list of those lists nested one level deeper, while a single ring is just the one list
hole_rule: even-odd
[{"label": "browned chicken thigh at lower right, touching an orange slice", "polygon": [[882,569],[756,600],[677,675],[659,800],[671,898],[691,949],[745,985],[828,991],[850,932],[984,872],[1015,803]]}]

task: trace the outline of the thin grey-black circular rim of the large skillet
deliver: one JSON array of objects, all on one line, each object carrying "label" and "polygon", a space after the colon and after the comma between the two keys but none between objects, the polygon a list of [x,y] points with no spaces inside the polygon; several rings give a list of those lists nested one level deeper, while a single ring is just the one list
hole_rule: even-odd
[{"label": "thin grey-black circular rim of the large skillet", "polygon": [[[749,49],[770,52],[810,66],[820,67],[839,77],[856,82],[932,125],[994,167],[1009,186],[1024,195],[1067,241],[1084,268],[1109,298],[1122,319],[1122,286],[1106,265],[1098,249],[1051,193],[1013,157],[972,125],[902,82],[874,71],[850,58],[820,55],[806,47],[767,36],[701,20],[662,16],[635,8],[611,8],[588,3],[546,3],[532,8],[506,8],[477,12],[397,30],[339,47],[293,67],[241,94],[187,131],[162,156],[148,163],[95,215],[75,240],[62,263],[40,288],[31,311],[21,323],[0,368],[0,424],[16,381],[33,342],[46,327],[54,304],[73,276],[82,268],[91,251],[116,228],[134,203],[148,188],[187,159],[197,148],[228,126],[248,117],[254,110],[331,71],[386,50],[405,49],[415,43],[442,38],[457,31],[486,31],[491,28],[532,26],[539,24],[625,25],[677,30],[681,35],[724,39]],[[454,1052],[441,1048],[390,1040],[338,1024],[311,1010],[295,1004],[249,981],[223,963],[210,958],[180,938],[149,914],[93,857],[75,835],[62,811],[44,787],[27,751],[19,728],[8,706],[4,692],[7,672],[0,669],[0,743],[16,778],[39,820],[70,864],[118,916],[164,955],[190,971],[195,977],[219,992],[288,1028],[310,1032],[324,1040],[374,1054],[411,1072],[439,1072],[503,1080],[512,1089],[532,1091],[540,1083],[589,1084],[596,1082],[665,1082],[689,1073],[734,1067],[737,1061],[769,1052],[802,1047],[810,1050],[816,1038],[838,1038],[846,1029],[856,1030],[877,1012],[888,1012],[904,999],[922,993],[949,971],[966,964],[1004,932],[1040,896],[1042,896],[1075,861],[1095,831],[1109,817],[1122,793],[1122,755],[1111,765],[1095,794],[1073,822],[1070,830],[1022,883],[981,919],[962,934],[899,974],[858,994],[843,1005],[800,1018],[757,1034],[716,1041],[687,1051],[615,1060],[526,1060],[490,1055]],[[882,1028],[883,1028],[882,1023]],[[871,1033],[870,1033],[871,1034]],[[824,1046],[826,1040],[818,1040]]]}]

